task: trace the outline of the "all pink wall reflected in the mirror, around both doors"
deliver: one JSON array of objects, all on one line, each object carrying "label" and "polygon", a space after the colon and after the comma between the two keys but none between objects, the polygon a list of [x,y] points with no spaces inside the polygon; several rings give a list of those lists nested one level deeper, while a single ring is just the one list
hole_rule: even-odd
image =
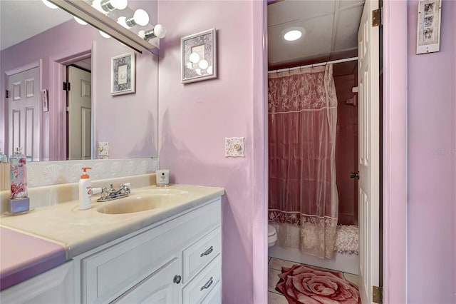
[{"label": "all pink wall reflected in the mirror, around both doors", "polygon": [[[130,1],[130,6],[138,6],[150,14],[155,24],[157,18],[156,1]],[[147,4],[147,5],[145,5]],[[133,7],[132,6],[132,7]],[[71,37],[71,38],[70,38]],[[6,121],[4,109],[4,87],[6,73],[30,69],[42,61],[41,88],[49,89],[49,112],[42,113],[43,160],[63,159],[61,149],[62,130],[65,129],[65,109],[59,107],[58,98],[63,97],[61,84],[56,84],[56,73],[63,73],[56,62],[68,56],[92,50],[93,71],[93,142],[96,157],[96,143],[110,142],[110,158],[157,157],[157,108],[158,108],[158,60],[144,52],[136,54],[136,92],[122,96],[110,95],[110,58],[134,51],[122,46],[114,39],[104,39],[91,26],[81,26],[76,21],[68,21],[42,34],[1,51],[1,92],[0,118]],[[9,73],[11,74],[11,73]],[[59,97],[58,94],[61,94]],[[135,123],[130,123],[134,121]],[[3,123],[1,123],[3,125]],[[2,129],[0,129],[1,131]],[[1,133],[0,148],[3,148],[8,134]],[[58,151],[56,151],[58,150]]]}]

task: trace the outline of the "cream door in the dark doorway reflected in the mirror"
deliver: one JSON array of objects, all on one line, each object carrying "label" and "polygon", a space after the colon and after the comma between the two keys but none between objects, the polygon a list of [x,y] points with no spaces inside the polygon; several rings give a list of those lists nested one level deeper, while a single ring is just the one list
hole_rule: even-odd
[{"label": "cream door in the dark doorway reflected in the mirror", "polygon": [[92,76],[68,66],[68,159],[90,159],[92,128]]}]

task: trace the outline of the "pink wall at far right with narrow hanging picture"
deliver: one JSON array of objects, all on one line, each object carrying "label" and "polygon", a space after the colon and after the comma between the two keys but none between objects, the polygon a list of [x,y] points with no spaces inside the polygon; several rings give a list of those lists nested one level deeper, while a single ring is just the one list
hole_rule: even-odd
[{"label": "pink wall at far right with narrow hanging picture", "polygon": [[408,1],[408,302],[456,303],[456,1],[442,1],[440,52],[415,54]]}]

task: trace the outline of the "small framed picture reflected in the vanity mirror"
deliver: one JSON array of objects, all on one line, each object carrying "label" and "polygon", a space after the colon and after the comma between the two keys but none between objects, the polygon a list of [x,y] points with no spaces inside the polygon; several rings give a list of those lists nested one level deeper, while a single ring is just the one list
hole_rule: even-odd
[{"label": "small framed picture reflected in the vanity mirror", "polygon": [[111,95],[135,93],[135,53],[111,58]]}]

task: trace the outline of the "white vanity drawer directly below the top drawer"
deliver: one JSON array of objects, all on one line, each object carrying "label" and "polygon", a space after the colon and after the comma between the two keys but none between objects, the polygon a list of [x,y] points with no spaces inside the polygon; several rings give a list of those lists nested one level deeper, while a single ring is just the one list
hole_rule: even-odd
[{"label": "white vanity drawer directly below the top drawer", "polygon": [[219,288],[221,273],[222,259],[221,255],[217,255],[199,275],[182,289],[182,302],[201,303],[214,288]]}]

